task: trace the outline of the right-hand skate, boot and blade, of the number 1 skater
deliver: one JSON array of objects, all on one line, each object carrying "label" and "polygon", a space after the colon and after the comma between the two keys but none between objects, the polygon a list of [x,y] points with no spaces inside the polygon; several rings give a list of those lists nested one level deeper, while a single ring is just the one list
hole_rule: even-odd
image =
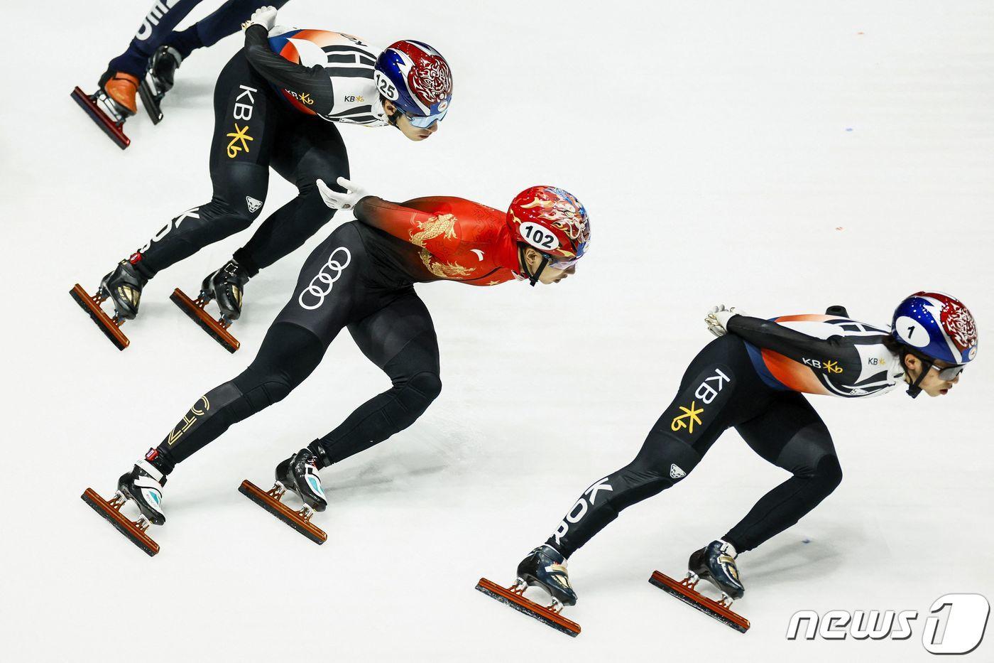
[{"label": "right-hand skate, boot and blade, of the number 1 skater", "polygon": [[[690,555],[687,575],[683,580],[674,580],[657,570],[653,571],[649,582],[688,605],[710,614],[723,624],[745,633],[749,627],[748,619],[730,609],[732,601],[745,594],[739,567],[736,565],[736,554],[732,544],[722,540],[713,541]],[[709,598],[697,590],[697,583],[702,578],[722,592],[719,600]]]}]

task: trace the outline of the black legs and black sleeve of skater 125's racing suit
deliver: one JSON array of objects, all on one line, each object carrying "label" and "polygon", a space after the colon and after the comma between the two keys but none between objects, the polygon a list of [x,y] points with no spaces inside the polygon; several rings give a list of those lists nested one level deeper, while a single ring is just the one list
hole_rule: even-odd
[{"label": "black legs and black sleeve of skater 125's racing suit", "polygon": [[209,156],[210,202],[183,212],[131,258],[146,278],[200,249],[247,229],[265,201],[269,168],[297,187],[297,196],[270,214],[235,259],[254,276],[301,246],[334,210],[315,180],[336,190],[349,176],[345,143],[334,123],[293,109],[275,88],[306,92],[313,108],[333,106],[331,82],[320,67],[307,69],[273,53],[265,28],[246,31],[246,47],[233,57],[214,90],[214,137]]}]

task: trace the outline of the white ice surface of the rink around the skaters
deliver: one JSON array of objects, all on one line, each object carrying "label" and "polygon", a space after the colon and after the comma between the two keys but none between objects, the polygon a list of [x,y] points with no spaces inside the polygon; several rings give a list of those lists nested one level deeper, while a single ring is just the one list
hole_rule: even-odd
[{"label": "white ice surface of the rink around the skaters", "polygon": [[[126,351],[93,328],[73,283],[95,287],[209,198],[212,89],[241,40],[184,63],[164,121],[129,120],[120,152],[69,92],[92,89],[147,3],[124,4],[5,9],[0,658],[928,660],[933,599],[994,600],[988,0],[290,2],[281,22],[377,44],[415,37],[452,63],[455,103],[426,143],[342,128],[357,181],[394,200],[496,207],[556,183],[590,211],[592,248],[557,287],[418,287],[445,387],[411,429],[324,473],[326,545],[236,488],[266,485],[287,452],[386,388],[347,334],[290,397],[175,472],[155,558],[86,508],[83,488],[109,494],[201,393],[245,367],[327,230],[248,286],[234,355],[168,295],[195,289],[249,232],[152,282]],[[263,213],[293,193],[273,174]],[[654,568],[678,574],[785,478],[734,432],[571,560],[576,640],[473,590],[481,575],[510,581],[580,491],[631,459],[709,340],[708,307],[842,304],[885,324],[918,289],[971,307],[977,365],[941,399],[813,398],[846,477],[741,558],[746,635],[646,582]],[[786,641],[804,608],[921,616],[902,642]],[[992,660],[992,640],[969,658]]]}]

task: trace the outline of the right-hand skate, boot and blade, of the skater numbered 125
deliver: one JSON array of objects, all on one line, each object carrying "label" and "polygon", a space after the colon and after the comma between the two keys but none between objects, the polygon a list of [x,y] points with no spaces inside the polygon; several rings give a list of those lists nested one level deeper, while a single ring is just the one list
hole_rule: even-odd
[{"label": "right-hand skate, boot and blade, of the skater numbered 125", "polygon": [[[234,259],[214,272],[200,286],[200,295],[191,300],[186,293],[177,288],[169,298],[185,313],[190,320],[202,330],[207,331],[212,338],[221,343],[229,352],[234,352],[240,346],[238,339],[228,328],[242,317],[242,297],[248,283],[248,270]],[[218,303],[221,316],[214,320],[204,311],[212,301]]]}]

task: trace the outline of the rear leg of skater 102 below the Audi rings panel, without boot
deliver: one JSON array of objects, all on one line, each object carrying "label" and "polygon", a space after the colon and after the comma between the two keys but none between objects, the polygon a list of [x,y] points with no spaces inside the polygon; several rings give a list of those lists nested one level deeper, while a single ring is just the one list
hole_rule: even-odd
[{"label": "rear leg of skater 102 below the Audi rings panel, without boot", "polygon": [[197,399],[158,446],[167,474],[229,426],[279,402],[321,362],[325,346],[311,331],[275,323],[248,368]]}]

